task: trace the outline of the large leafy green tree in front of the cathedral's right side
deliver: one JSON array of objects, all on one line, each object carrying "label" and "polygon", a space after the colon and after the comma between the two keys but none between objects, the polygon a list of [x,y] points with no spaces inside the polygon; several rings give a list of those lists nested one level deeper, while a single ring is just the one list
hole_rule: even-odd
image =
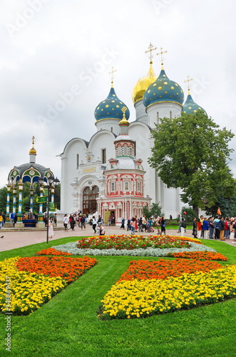
[{"label": "large leafy green tree in front of the cathedral's right side", "polygon": [[232,149],[228,141],[234,134],[208,118],[203,111],[163,118],[153,131],[150,166],[170,187],[182,188],[184,203],[198,208],[212,206],[222,193],[230,197],[235,180],[227,166]]}]

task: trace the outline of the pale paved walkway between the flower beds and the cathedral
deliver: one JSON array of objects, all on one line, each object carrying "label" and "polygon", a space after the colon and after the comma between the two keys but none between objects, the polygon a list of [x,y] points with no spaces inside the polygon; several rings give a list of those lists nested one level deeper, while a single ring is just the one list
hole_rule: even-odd
[{"label": "pale paved walkway between the flower beds and the cathedral", "polygon": [[[105,231],[107,235],[127,234],[126,229],[120,229],[120,227],[117,226],[105,226]],[[138,232],[137,234],[144,236],[147,234],[156,235],[157,233],[158,232],[155,229],[153,233]],[[180,236],[180,233],[177,233],[177,231],[175,230],[167,229],[166,234],[169,234],[170,236]],[[46,229],[45,231],[12,231],[11,228],[0,229],[0,237],[2,236],[3,238],[0,238],[0,251],[9,251],[10,249],[14,249],[14,248],[20,248],[23,246],[30,246],[31,244],[46,242]],[[53,238],[50,239],[50,241],[53,241],[58,238],[63,238],[66,236],[68,237],[94,236],[94,233],[93,233],[92,226],[87,225],[86,229],[81,229],[78,228],[78,226],[76,226],[75,231],[72,231],[71,229],[69,229],[68,231],[64,231],[64,230],[54,231]],[[185,236],[193,238],[192,231],[187,230]],[[234,245],[236,246],[235,242],[232,241],[231,239],[226,239],[225,243],[229,243],[232,246]]]}]

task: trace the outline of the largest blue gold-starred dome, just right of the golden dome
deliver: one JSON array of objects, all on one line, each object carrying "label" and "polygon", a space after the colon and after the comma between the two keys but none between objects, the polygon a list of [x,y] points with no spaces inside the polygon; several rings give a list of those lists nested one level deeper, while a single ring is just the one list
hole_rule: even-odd
[{"label": "largest blue gold-starred dome, just right of the golden dome", "polygon": [[158,79],[150,84],[148,89],[145,91],[143,104],[146,108],[148,108],[148,106],[152,106],[153,104],[163,102],[178,103],[182,105],[183,99],[183,89],[179,86],[179,84],[168,79],[162,65]]}]

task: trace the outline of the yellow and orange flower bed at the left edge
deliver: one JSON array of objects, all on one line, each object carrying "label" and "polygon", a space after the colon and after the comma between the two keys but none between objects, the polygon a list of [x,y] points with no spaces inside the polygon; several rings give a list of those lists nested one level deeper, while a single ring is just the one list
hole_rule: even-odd
[{"label": "yellow and orange flower bed at the left edge", "polygon": [[[0,261],[0,311],[28,315],[96,263],[94,258],[57,256]],[[10,306],[6,301],[6,278],[11,283]]]}]

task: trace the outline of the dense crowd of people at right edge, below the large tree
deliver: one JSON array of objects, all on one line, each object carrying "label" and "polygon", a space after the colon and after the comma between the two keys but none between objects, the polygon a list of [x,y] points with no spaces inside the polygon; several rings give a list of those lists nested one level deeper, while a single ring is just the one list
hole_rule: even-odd
[{"label": "dense crowd of people at right edge, below the large tree", "polygon": [[193,236],[195,238],[210,238],[225,241],[226,238],[236,239],[236,217],[215,216],[193,219]]}]

